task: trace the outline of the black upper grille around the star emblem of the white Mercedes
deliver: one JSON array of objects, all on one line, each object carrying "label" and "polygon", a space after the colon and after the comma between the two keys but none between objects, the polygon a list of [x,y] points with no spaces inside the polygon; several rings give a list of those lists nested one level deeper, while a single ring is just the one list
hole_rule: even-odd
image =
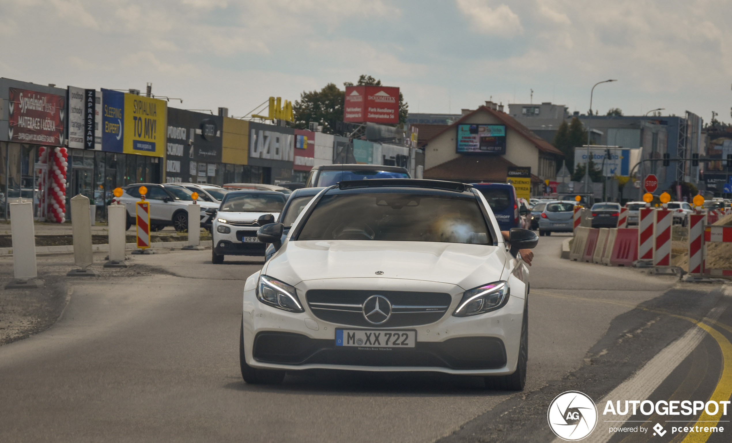
[{"label": "black upper grille around the star emblem of the white Mercedes", "polygon": [[[392,304],[386,322],[374,325],[363,313],[363,304],[372,295],[381,295]],[[310,289],[307,306],[315,317],[339,325],[360,327],[406,327],[427,325],[441,319],[452,302],[444,292]]]}]

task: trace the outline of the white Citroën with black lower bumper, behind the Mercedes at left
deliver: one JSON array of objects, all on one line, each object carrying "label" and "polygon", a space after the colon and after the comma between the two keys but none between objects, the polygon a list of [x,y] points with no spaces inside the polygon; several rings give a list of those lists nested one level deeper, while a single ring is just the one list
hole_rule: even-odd
[{"label": "white Citro\u00ebn with black lower bumper, behind the Mercedes at left", "polygon": [[263,224],[274,223],[287,196],[277,191],[231,191],[214,215],[211,261],[224,262],[225,255],[264,256],[266,243],[257,238]]}]

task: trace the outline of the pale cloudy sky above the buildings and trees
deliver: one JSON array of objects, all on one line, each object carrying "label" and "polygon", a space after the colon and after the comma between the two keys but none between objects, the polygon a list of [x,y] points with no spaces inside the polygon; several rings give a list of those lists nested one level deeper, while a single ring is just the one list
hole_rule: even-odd
[{"label": "pale cloudy sky above the buildings and trees", "polygon": [[732,121],[728,0],[0,0],[0,77],[242,116],[360,74],[412,112],[487,99]]}]

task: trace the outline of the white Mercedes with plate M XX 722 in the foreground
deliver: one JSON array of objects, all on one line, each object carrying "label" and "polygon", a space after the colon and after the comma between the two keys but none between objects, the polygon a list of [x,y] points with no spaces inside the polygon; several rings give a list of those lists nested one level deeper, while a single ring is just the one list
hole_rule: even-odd
[{"label": "white Mercedes with plate M XX 722 in the foreground", "polygon": [[[229,194],[231,195],[231,194]],[[283,224],[259,228],[277,252],[244,284],[239,358],[247,383],[285,371],[439,371],[521,390],[529,271],[468,184],[341,181]]]}]

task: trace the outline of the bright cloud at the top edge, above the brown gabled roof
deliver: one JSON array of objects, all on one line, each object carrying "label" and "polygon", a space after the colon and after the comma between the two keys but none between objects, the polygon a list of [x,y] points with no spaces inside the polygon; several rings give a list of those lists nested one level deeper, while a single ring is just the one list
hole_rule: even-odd
[{"label": "bright cloud at the top edge, above the brown gabled roof", "polygon": [[514,37],[523,33],[521,20],[505,4],[490,7],[488,0],[455,0],[474,31],[480,34]]}]

